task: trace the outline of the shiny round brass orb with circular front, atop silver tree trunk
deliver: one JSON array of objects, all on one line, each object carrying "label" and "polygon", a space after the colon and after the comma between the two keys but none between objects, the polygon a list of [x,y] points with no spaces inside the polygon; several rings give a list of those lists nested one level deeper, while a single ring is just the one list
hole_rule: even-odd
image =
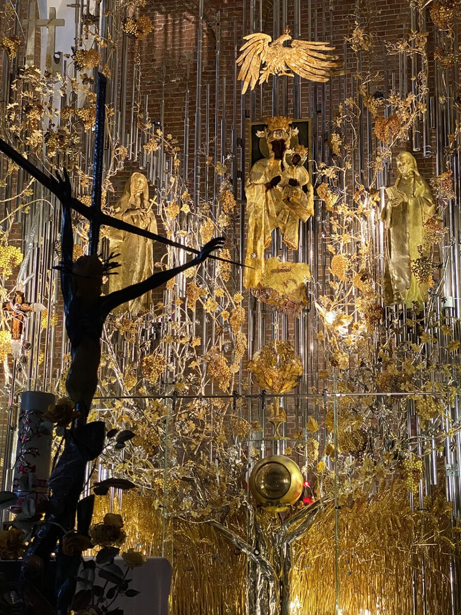
[{"label": "shiny round brass orb with circular front, atop silver tree trunk", "polygon": [[297,464],[285,455],[272,455],[258,461],[250,475],[254,498],[272,512],[288,510],[302,493],[304,478]]}]

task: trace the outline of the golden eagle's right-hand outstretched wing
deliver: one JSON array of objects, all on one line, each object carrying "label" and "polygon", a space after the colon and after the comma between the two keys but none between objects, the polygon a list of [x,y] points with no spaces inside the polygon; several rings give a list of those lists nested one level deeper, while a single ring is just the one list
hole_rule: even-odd
[{"label": "golden eagle's right-hand outstretched wing", "polygon": [[285,64],[293,73],[310,81],[328,81],[329,77],[342,74],[338,55],[329,55],[334,47],[328,42],[291,41],[291,47],[283,47]]}]

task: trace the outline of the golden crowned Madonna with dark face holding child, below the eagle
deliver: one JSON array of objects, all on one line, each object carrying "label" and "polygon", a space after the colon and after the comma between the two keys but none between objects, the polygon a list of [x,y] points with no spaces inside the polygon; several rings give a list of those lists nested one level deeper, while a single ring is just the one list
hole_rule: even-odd
[{"label": "golden crowned Madonna with dark face holding child, below the eagle", "polygon": [[259,130],[269,148],[269,157],[251,167],[246,180],[246,239],[243,274],[245,288],[256,288],[264,272],[264,250],[272,242],[272,231],[280,228],[283,242],[297,250],[299,220],[313,215],[313,188],[304,168],[307,148],[296,145],[290,149],[297,129],[289,117],[265,117],[266,128]]}]

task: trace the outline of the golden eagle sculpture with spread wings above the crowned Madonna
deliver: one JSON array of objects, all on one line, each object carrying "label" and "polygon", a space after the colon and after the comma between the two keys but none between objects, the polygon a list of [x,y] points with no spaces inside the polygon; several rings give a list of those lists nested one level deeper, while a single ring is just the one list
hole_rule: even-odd
[{"label": "golden eagle sculpture with spread wings above the crowned Madonna", "polygon": [[[240,47],[242,54],[236,60],[241,67],[237,79],[243,81],[242,94],[248,86],[253,90],[258,82],[268,81],[271,74],[293,77],[296,73],[304,79],[323,82],[333,75],[342,74],[339,56],[326,53],[333,51],[334,47],[328,42],[293,41],[290,28],[285,28],[285,34],[275,41],[262,32],[247,34],[243,38],[246,43]],[[283,45],[286,41],[290,41],[288,47]]]}]

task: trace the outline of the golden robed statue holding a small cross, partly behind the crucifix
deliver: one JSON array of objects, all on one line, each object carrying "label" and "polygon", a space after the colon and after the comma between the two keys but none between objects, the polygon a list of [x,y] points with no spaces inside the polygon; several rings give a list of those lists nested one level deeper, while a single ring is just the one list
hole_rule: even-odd
[{"label": "golden robed statue holding a small cross, partly behind the crucifix", "polygon": [[[127,181],[124,193],[115,207],[115,216],[138,228],[157,232],[157,222],[149,204],[148,180],[142,173],[133,173]],[[111,228],[109,231],[111,252],[119,253],[116,260],[121,267],[117,274],[109,277],[109,292],[120,290],[130,284],[137,284],[154,272],[152,241],[145,237]],[[145,293],[124,304],[119,311],[127,309],[132,314],[151,307],[151,293]]]}]

